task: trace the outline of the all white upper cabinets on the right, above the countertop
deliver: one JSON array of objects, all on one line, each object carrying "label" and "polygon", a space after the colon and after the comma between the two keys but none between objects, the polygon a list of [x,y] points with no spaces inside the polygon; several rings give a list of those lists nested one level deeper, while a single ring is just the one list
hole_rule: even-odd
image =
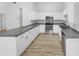
[{"label": "all white upper cabinets on the right, above the countertop", "polygon": [[63,14],[67,15],[67,24],[79,31],[79,2],[68,2],[65,11]]}]

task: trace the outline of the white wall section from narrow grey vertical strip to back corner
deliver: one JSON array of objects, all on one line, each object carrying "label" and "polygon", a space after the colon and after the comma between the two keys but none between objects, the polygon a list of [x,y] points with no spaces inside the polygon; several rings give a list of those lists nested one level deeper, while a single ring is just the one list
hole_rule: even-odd
[{"label": "white wall section from narrow grey vertical strip to back corner", "polygon": [[32,2],[18,3],[23,8],[23,26],[31,24],[31,20],[36,19],[36,12]]}]

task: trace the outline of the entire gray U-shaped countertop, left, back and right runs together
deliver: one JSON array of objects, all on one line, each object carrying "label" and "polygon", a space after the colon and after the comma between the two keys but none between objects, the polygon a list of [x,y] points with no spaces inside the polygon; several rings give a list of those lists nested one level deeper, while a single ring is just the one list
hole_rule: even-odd
[{"label": "entire gray U-shaped countertop, left, back and right runs together", "polygon": [[[40,20],[39,20],[40,21]],[[36,21],[34,21],[36,22]],[[36,22],[35,24],[32,25],[28,25],[22,28],[16,28],[16,29],[12,29],[6,32],[0,32],[0,37],[16,37],[19,36],[20,34],[23,34],[24,32],[29,31],[30,29],[38,26],[38,25],[45,25],[44,21],[41,22]],[[64,33],[66,38],[79,38],[79,32],[75,31],[74,29],[72,29],[71,27],[65,25],[65,21],[62,20],[56,20],[54,21],[54,24],[57,24],[61,27],[62,32]]]}]

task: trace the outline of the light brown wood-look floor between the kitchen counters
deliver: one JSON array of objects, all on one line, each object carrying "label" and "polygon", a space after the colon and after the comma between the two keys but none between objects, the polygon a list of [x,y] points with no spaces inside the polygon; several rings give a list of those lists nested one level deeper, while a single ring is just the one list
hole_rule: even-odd
[{"label": "light brown wood-look floor between the kitchen counters", "polygon": [[39,34],[22,56],[63,56],[58,34]]}]

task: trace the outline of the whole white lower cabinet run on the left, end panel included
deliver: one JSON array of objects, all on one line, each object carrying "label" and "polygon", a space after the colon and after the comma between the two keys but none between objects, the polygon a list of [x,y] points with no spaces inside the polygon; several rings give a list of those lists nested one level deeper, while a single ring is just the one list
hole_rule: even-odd
[{"label": "whole white lower cabinet run on the left, end panel included", "polygon": [[0,56],[21,55],[39,34],[39,26],[18,37],[0,37]]}]

